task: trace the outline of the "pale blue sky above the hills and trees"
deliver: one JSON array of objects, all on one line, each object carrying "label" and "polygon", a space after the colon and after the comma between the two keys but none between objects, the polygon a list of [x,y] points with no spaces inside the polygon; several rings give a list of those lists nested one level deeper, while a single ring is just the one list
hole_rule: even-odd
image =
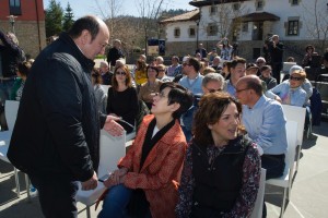
[{"label": "pale blue sky above the hills and trees", "polygon": [[[99,15],[98,7],[96,5],[96,2],[94,0],[56,0],[57,2],[60,2],[61,7],[66,9],[67,3],[70,2],[71,8],[73,9],[74,19],[79,19],[86,14],[94,14]],[[133,0],[120,0],[122,1],[122,9],[121,14],[124,15],[134,15],[138,16],[139,12],[137,10],[136,4],[133,3]],[[188,2],[191,0],[165,0],[164,8],[166,9],[186,9],[186,10],[192,10],[196,9],[191,7]],[[106,0],[98,0],[99,5],[107,7]],[[49,0],[44,0],[44,7],[45,9],[48,7]]]}]

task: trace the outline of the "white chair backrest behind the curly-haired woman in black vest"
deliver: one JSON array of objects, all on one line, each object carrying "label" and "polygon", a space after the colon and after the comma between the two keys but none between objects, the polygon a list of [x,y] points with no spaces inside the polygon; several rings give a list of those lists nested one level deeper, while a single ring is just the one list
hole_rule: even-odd
[{"label": "white chair backrest behind the curly-haired woman in black vest", "polygon": [[261,218],[262,217],[263,199],[265,199],[265,194],[266,194],[266,174],[267,174],[267,170],[261,168],[259,189],[257,192],[256,202],[255,202],[255,206],[251,211],[250,218]]}]

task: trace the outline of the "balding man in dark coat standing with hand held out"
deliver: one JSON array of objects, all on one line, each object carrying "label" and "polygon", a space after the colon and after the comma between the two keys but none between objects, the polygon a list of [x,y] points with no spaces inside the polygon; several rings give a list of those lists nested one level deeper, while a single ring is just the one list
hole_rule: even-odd
[{"label": "balding man in dark coat standing with hand held out", "polygon": [[81,17],[40,52],[26,80],[8,158],[28,174],[47,218],[77,218],[79,181],[82,190],[97,186],[101,126],[122,133],[98,113],[91,83],[108,39],[105,22]]}]

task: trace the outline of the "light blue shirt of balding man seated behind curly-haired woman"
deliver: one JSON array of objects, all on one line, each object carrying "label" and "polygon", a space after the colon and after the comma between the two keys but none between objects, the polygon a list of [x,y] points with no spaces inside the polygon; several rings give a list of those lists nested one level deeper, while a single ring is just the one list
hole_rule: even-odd
[{"label": "light blue shirt of balding man seated behind curly-haired woman", "polygon": [[261,96],[253,108],[243,105],[242,119],[248,136],[262,148],[263,154],[285,154],[285,118],[277,100]]}]

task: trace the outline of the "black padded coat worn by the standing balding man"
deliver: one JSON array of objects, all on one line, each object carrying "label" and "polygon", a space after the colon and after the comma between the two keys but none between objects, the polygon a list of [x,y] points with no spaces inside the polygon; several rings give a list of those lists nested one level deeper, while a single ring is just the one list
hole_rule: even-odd
[{"label": "black padded coat worn by the standing balding man", "polygon": [[86,181],[99,160],[99,128],[91,84],[94,62],[67,35],[36,58],[8,153],[28,174]]}]

